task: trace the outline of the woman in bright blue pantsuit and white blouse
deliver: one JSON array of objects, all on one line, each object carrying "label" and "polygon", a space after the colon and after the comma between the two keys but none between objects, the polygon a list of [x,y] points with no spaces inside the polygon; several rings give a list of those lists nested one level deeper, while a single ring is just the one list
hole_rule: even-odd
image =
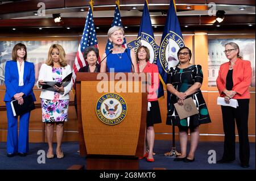
[{"label": "woman in bright blue pantsuit and white blouse", "polygon": [[35,66],[27,62],[27,48],[24,44],[18,43],[14,46],[11,54],[13,60],[7,61],[5,65],[5,86],[6,93],[4,101],[7,110],[7,157],[13,157],[16,153],[26,156],[28,153],[28,122],[30,112],[20,115],[19,137],[18,137],[18,116],[13,116],[11,101],[18,100],[23,104],[22,96],[35,95],[33,87],[35,84]]}]

